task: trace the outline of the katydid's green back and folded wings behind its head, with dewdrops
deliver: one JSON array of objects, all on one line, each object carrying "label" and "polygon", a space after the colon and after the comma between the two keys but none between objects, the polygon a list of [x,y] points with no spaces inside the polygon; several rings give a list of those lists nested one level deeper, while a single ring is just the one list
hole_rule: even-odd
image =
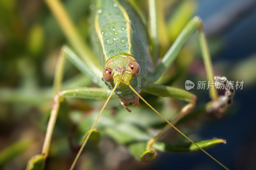
[{"label": "katydid's green back and folded wings behind its head, with dewdrops", "polygon": [[127,53],[140,64],[142,77],[151,71],[148,34],[138,14],[125,1],[98,0],[94,30],[98,39],[95,52],[103,66],[114,55]]}]

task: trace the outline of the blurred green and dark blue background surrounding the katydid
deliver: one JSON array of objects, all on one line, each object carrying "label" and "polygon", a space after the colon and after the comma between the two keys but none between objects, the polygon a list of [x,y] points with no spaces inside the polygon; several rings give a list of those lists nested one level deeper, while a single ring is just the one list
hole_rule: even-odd
[{"label": "blurred green and dark blue background surrounding the katydid", "polygon": [[[147,1],[129,1],[145,16],[147,23]],[[90,5],[95,4],[95,1],[62,2],[84,41],[90,42]],[[160,35],[163,40],[161,55],[170,47],[188,20],[198,15],[204,21],[214,75],[220,74],[228,80],[244,81],[244,88],[236,91],[234,103],[224,115],[204,114],[179,126],[194,140],[214,137],[226,139],[226,145],[217,145],[209,149],[209,152],[231,169],[255,168],[255,6],[255,0],[163,0],[160,5],[164,11],[163,22],[168,26],[165,30],[167,35]],[[63,44],[68,42],[44,1],[0,1],[0,169],[24,169],[28,159],[41,152],[54,95],[52,83],[55,65]],[[165,84],[181,89],[184,89],[187,79],[193,82],[205,80],[197,34],[188,41],[168,73],[170,74]],[[67,62],[62,88],[78,86],[96,85]],[[200,110],[210,100],[207,90],[195,88],[191,92],[198,98],[195,110]],[[169,119],[184,105],[179,100],[160,97],[156,99],[151,95],[145,97],[149,103],[156,101],[155,107],[169,116]],[[80,144],[79,137],[83,136],[92,124],[91,113],[97,114],[103,103],[103,100],[79,99],[61,103],[45,169],[70,167]],[[99,122],[97,127],[102,131],[101,140],[98,146],[85,149],[77,169],[221,168],[203,152],[159,152],[151,162],[135,160],[122,145],[124,141],[115,136],[113,129],[122,126],[123,129],[136,133],[136,129],[132,128],[139,127],[143,129],[143,133],[139,134],[143,139],[148,137],[143,136],[146,132],[155,134],[156,130],[163,126],[163,122],[142,102],[139,109],[129,107],[132,113],[126,113],[117,99],[110,101],[101,117],[102,122]],[[138,119],[136,116],[140,115],[142,116]],[[112,129],[106,128],[108,124],[104,125],[104,120],[110,121]],[[175,131],[170,131],[165,138],[176,142],[184,140]]]}]

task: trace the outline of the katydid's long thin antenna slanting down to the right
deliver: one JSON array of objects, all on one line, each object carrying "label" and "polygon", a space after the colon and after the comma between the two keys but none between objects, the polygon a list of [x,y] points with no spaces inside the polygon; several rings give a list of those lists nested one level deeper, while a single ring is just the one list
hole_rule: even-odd
[{"label": "katydid's long thin antenna slanting down to the right", "polygon": [[168,124],[170,124],[174,129],[176,129],[181,135],[183,135],[183,136],[186,137],[190,142],[192,142],[193,144],[195,144],[199,149],[201,149],[206,155],[208,155],[210,158],[212,158],[214,161],[216,161],[218,164],[220,164],[223,168],[229,170],[226,166],[224,166],[222,163],[220,163],[217,159],[213,158],[212,155],[210,155],[208,152],[204,151],[203,148],[201,148],[200,146],[198,146],[198,145],[197,145],[195,142],[193,142],[190,138],[188,138],[186,135],[184,135],[184,134],[183,134],[179,129],[177,129],[172,123],[170,123],[167,119],[165,119],[164,116],[162,116],[160,113],[158,113],[158,112],[156,111],[156,109],[154,109],[150,104],[148,104],[148,102],[147,102],[146,100],[144,100],[144,99],[140,96],[140,94],[139,94],[138,92],[136,92],[136,91],[132,88],[132,86],[130,85],[130,82],[129,82],[129,81],[125,82],[125,84],[128,85],[128,86],[132,89],[132,91],[135,92],[135,94],[137,94],[137,95],[140,97],[140,99],[143,100],[152,110],[154,110],[154,111],[157,113],[157,115],[159,115],[162,119],[164,119]]}]

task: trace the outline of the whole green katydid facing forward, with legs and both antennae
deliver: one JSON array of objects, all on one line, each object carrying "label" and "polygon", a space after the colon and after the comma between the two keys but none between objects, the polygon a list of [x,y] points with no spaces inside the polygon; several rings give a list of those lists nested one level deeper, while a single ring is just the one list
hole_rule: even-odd
[{"label": "whole green katydid facing forward, with legs and both antennae", "polygon": [[[150,49],[148,48],[148,33],[136,11],[134,11],[133,8],[125,1],[98,0],[96,3],[94,15],[94,34],[92,34],[92,40],[94,40],[94,52],[99,58],[97,59],[94,57],[93,52],[89,48],[89,45],[86,44],[76,32],[75,27],[73,26],[61,3],[58,0],[45,1],[57,18],[73,48],[80,56],[83,57],[83,59],[80,59],[67,46],[62,47],[62,52],[60,53],[54,79],[54,89],[57,94],[53,98],[51,117],[47,126],[46,136],[42,149],[42,155],[45,158],[49,154],[52,132],[57,119],[60,102],[63,98],[68,96],[87,99],[108,98],[102,107],[96,121],[93,123],[92,128],[85,138],[84,143],[82,144],[82,147],[80,148],[76,159],[70,168],[73,169],[101,113],[106,107],[108,100],[111,97],[118,96],[121,104],[128,111],[130,111],[130,109],[126,107],[127,104],[137,104],[137,107],[139,107],[139,99],[141,99],[168,123],[168,127],[166,126],[162,132],[148,141],[146,146],[148,152],[151,152],[153,149],[152,146],[156,143],[156,141],[168,129],[170,129],[170,127],[173,127],[190,142],[195,144],[199,149],[214,159],[217,163],[228,169],[173,125],[180,119],[179,116],[177,119],[169,122],[153,107],[151,107],[148,102],[145,101],[139,94],[141,91],[143,91],[156,96],[179,98],[181,100],[187,101],[188,104],[182,108],[180,115],[188,114],[195,107],[196,96],[194,94],[182,89],[161,85],[160,82],[161,75],[164,74],[164,72],[170,67],[171,63],[175,57],[177,57],[181,48],[196,30],[199,30],[199,41],[203,60],[206,65],[207,79],[209,81],[213,81],[211,58],[204,35],[202,22],[199,17],[194,17],[189,21],[187,26],[185,26],[183,31],[178,36],[177,40],[173,43],[172,47],[161,59],[161,62],[156,64],[153,61],[156,61],[157,56],[154,54],[151,55]],[[156,23],[154,23],[156,21],[154,3],[154,0],[148,0],[151,21],[149,26],[149,35],[152,41],[157,39],[157,27]],[[65,55],[68,57],[71,63],[73,63],[82,73],[92,78],[93,82],[98,84],[100,87],[73,88],[59,91],[65,63]],[[102,64],[101,66],[100,62]],[[103,69],[102,66],[105,69]],[[101,81],[101,79],[103,81]],[[106,88],[107,86],[111,91]],[[210,97],[213,101],[218,100],[216,89],[210,89]]]}]

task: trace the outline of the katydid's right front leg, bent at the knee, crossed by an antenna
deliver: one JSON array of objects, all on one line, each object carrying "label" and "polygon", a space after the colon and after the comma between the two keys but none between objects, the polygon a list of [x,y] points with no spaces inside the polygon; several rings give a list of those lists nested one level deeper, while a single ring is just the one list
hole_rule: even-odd
[{"label": "katydid's right front leg, bent at the knee, crossed by an antenna", "polygon": [[[181,118],[187,115],[192,109],[194,109],[196,105],[196,95],[179,88],[158,84],[146,84],[141,86],[141,90],[143,92],[153,94],[155,96],[179,98],[181,100],[185,100],[188,102],[188,104],[180,110],[180,113],[177,115],[177,117],[174,120],[172,120],[171,123],[174,125]],[[147,143],[147,150],[151,150],[152,145],[155,144],[156,141],[159,140],[159,138],[162,137],[171,128],[172,127],[169,124],[167,124],[159,134],[150,139]]]}]

